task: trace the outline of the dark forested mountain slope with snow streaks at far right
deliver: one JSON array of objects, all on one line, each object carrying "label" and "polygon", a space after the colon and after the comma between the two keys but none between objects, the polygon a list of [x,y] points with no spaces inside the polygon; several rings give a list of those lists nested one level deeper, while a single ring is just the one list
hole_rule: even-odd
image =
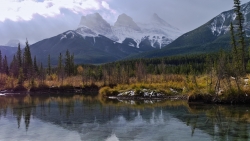
[{"label": "dark forested mountain slope with snow streaks at far right", "polygon": [[[247,37],[245,41],[246,45],[249,46],[250,2],[241,5],[241,12],[244,16],[243,29]],[[222,12],[200,27],[178,37],[165,48],[151,53],[140,54],[140,57],[209,53],[221,49],[231,51],[230,23],[233,23],[236,29],[236,22],[234,9]]]}]

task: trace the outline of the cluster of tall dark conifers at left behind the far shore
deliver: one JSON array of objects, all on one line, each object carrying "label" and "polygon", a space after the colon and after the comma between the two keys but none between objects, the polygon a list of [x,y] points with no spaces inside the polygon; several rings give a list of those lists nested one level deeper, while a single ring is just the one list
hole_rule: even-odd
[{"label": "cluster of tall dark conifers at left behind the far shore", "polygon": [[[47,68],[44,68],[44,65],[37,61],[36,56],[32,59],[30,45],[28,41],[26,41],[24,49],[21,49],[20,44],[18,44],[17,52],[13,55],[10,64],[8,64],[7,57],[2,56],[0,50],[0,74],[18,79],[18,84],[20,85],[22,85],[24,81],[29,81],[29,83],[32,84],[35,79],[39,79],[43,83],[46,76],[50,76],[52,73],[57,72],[59,76],[62,74],[64,76],[74,75],[75,65],[73,60],[74,55],[70,54],[69,51],[66,52],[64,58],[60,53],[58,68],[52,68],[50,65],[50,55],[48,55]],[[64,74],[64,72],[66,73]]]}]

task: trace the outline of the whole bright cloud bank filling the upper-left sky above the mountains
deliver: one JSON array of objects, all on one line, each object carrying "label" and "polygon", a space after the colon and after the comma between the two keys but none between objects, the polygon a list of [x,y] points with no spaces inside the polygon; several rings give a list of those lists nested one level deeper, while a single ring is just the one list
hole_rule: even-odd
[{"label": "whole bright cloud bank filling the upper-left sky above the mountains", "polygon": [[[103,2],[105,1],[105,2]],[[110,0],[0,0],[0,45],[11,39],[30,44],[75,30],[82,15],[100,13],[114,21]],[[103,6],[105,5],[105,7]]]}]

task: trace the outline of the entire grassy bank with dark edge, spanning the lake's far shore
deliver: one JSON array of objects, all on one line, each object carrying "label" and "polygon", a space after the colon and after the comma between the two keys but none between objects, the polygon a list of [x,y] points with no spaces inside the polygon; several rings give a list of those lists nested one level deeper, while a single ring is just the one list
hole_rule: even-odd
[{"label": "entire grassy bank with dark edge, spanning the lake's far shore", "polygon": [[147,89],[165,96],[184,95],[189,97],[190,102],[247,103],[250,102],[250,98],[248,98],[250,97],[250,87],[248,81],[246,81],[246,78],[249,77],[250,75],[247,75],[245,78],[239,79],[238,85],[233,77],[225,77],[220,79],[218,87],[218,78],[215,72],[202,75],[147,75],[141,81],[138,81],[136,77],[130,77],[126,83],[123,81],[120,83],[107,83],[104,80],[94,79],[83,81],[81,75],[66,77],[62,81],[56,75],[50,75],[43,81],[39,79],[26,80],[20,85],[18,79],[2,74],[0,77],[0,90],[35,92],[55,90],[56,92],[67,92],[65,90],[76,90],[75,88],[78,88],[85,93],[99,90],[99,97],[107,97],[117,96],[131,90],[139,95],[143,89]]}]

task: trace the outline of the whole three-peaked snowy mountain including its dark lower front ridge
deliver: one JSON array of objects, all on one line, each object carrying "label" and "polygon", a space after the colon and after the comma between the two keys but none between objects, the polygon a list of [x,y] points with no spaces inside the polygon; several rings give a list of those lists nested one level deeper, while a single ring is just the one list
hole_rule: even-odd
[{"label": "whole three-peaked snowy mountain including its dark lower front ridge", "polygon": [[125,14],[118,17],[114,26],[98,13],[83,16],[76,30],[39,41],[31,45],[30,50],[32,55],[45,64],[47,55],[50,54],[51,64],[56,65],[59,53],[64,54],[66,50],[74,54],[75,62],[79,64],[117,61],[130,55],[156,50],[174,39],[169,33],[178,29],[157,15],[152,18],[155,21],[140,27]]}]

